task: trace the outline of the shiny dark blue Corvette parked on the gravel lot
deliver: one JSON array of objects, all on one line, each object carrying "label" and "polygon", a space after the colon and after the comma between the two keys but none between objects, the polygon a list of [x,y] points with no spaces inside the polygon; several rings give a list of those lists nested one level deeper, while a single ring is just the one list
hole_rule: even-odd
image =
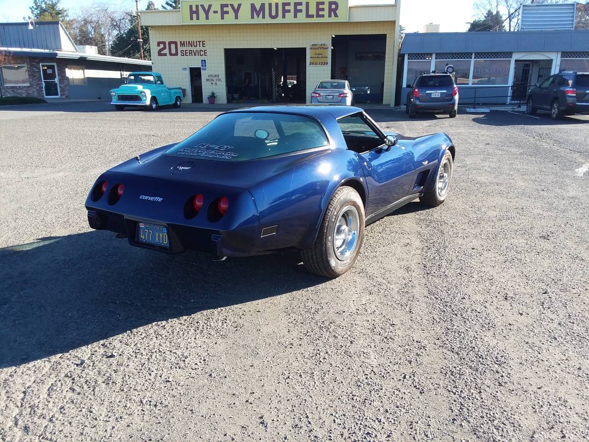
[{"label": "shiny dark blue Corvette parked on the gravel lot", "polygon": [[215,259],[300,250],[335,278],[366,225],[416,198],[444,203],[454,157],[446,134],[385,134],[357,107],[253,107],[106,171],[85,205],[92,229],[134,246]]}]

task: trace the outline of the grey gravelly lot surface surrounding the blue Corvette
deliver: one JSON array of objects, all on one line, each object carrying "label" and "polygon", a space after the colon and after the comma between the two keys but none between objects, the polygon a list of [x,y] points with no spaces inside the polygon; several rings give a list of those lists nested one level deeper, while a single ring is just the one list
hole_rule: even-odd
[{"label": "grey gravelly lot surface surrounding the blue Corvette", "polygon": [[0,440],[589,439],[589,117],[371,114],[454,139],[450,197],[325,281],[89,229],[101,171],[214,113],[0,110]]}]

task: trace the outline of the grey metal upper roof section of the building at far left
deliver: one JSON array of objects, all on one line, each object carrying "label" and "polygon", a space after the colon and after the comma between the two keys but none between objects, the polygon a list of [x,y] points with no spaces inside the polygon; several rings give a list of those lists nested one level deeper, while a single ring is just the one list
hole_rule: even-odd
[{"label": "grey metal upper roof section of the building at far left", "polygon": [[0,46],[6,48],[43,49],[77,52],[74,41],[58,21],[0,23]]}]

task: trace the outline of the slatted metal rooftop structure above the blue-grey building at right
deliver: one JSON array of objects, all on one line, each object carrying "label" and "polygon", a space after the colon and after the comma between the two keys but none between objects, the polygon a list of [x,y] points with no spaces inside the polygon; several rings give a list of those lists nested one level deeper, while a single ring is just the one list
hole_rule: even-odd
[{"label": "slatted metal rooftop structure above the blue-grey building at right", "polygon": [[519,29],[574,29],[576,6],[575,3],[522,5]]}]

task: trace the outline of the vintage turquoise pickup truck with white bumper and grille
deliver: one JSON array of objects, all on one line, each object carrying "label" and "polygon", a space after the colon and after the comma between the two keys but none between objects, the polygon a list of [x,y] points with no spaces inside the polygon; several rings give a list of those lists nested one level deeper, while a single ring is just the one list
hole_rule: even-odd
[{"label": "vintage turquoise pickup truck with white bumper and grille", "polygon": [[116,110],[127,106],[145,106],[156,110],[160,106],[182,104],[182,88],[167,87],[159,72],[131,72],[127,84],[112,89],[111,104]]}]

